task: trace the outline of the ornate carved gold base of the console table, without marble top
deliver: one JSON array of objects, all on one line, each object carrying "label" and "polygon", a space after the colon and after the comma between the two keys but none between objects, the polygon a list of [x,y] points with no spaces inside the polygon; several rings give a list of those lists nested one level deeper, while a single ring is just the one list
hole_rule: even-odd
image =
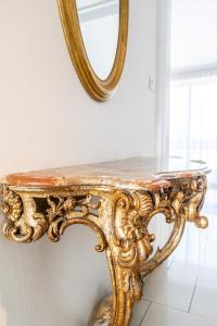
[{"label": "ornate carved gold base of the console table, without marble top", "polygon": [[[133,303],[142,296],[142,278],[176,249],[186,222],[207,226],[207,218],[200,216],[205,191],[205,176],[171,179],[169,188],[153,191],[4,185],[3,233],[17,242],[36,241],[44,234],[59,241],[69,225],[91,227],[99,237],[97,251],[106,252],[113,296],[99,305],[89,325],[127,326]],[[158,213],[174,228],[166,244],[153,253],[155,235],[149,231],[149,224]]]}]

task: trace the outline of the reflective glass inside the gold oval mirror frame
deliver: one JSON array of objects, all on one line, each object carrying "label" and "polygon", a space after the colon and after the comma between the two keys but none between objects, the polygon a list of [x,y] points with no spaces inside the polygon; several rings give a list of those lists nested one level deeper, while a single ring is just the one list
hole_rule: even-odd
[{"label": "reflective glass inside the gold oval mirror frame", "polygon": [[117,50],[119,0],[76,0],[76,5],[89,62],[104,80],[112,72]]}]

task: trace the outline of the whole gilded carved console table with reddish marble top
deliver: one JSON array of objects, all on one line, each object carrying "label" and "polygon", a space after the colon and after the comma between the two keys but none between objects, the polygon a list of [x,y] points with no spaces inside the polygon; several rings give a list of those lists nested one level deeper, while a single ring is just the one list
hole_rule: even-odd
[{"label": "whole gilded carved console table with reddish marble top", "polygon": [[[207,173],[195,162],[137,158],[9,175],[1,183],[3,234],[25,243],[47,234],[55,242],[69,225],[91,227],[99,237],[97,251],[106,252],[113,296],[90,325],[127,326],[142,296],[142,278],[176,249],[186,222],[207,227],[200,216]],[[153,253],[157,239],[149,223],[158,213],[174,228]]]}]

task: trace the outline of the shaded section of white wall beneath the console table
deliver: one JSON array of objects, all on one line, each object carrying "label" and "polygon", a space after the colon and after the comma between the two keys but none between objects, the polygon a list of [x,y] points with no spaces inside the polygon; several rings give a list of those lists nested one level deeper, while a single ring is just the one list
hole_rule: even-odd
[{"label": "shaded section of white wall beneath the console table", "polygon": [[0,233],[0,326],[86,326],[111,292],[105,254],[94,252],[95,241],[79,225],[59,243],[43,237],[20,244]]}]

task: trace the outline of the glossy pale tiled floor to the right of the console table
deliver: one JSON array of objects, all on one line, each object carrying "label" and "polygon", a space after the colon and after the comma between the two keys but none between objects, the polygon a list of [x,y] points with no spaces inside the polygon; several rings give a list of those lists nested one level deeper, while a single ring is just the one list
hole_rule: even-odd
[{"label": "glossy pale tiled floor to the right of the console table", "polygon": [[188,224],[169,262],[144,283],[131,326],[217,326],[217,190],[209,190],[203,213],[206,230]]}]

